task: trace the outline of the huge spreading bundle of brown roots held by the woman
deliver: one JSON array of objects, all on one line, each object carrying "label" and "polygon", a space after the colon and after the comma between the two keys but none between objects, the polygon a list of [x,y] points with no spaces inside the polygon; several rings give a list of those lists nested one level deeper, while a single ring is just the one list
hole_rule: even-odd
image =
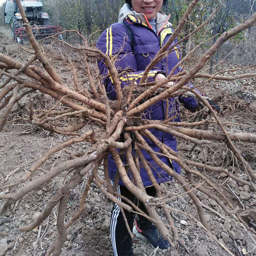
[{"label": "huge spreading bundle of brown roots held by the woman", "polygon": [[[125,209],[128,212],[134,212],[147,217],[156,225],[164,239],[167,239],[172,246],[175,246],[177,241],[180,244],[183,244],[182,240],[178,236],[177,228],[175,228],[172,216],[170,214],[171,210],[176,211],[176,209],[170,208],[166,203],[168,200],[172,200],[171,193],[170,191],[164,190],[156,182],[148,162],[141,153],[141,149],[146,150],[150,157],[155,161],[155,164],[159,165],[161,169],[171,175],[173,179],[180,184],[182,189],[184,189],[184,193],[188,194],[190,199],[195,204],[199,219],[197,219],[196,216],[191,216],[189,212],[183,213],[190,216],[190,218],[198,223],[198,225],[202,227],[210,236],[212,236],[228,253],[233,255],[212,235],[203,214],[202,204],[196,196],[196,191],[200,191],[209,198],[215,200],[225,213],[235,214],[238,220],[240,220],[248,230],[256,234],[255,229],[250,228],[241,218],[239,214],[239,207],[234,207],[228,200],[227,196],[224,195],[218,186],[218,182],[213,179],[210,180],[205,174],[205,171],[225,173],[225,175],[227,175],[230,179],[244,185],[248,185],[251,189],[256,191],[256,186],[253,181],[256,179],[256,174],[252,171],[249,163],[244,159],[240,151],[233,144],[233,141],[256,143],[256,136],[252,133],[228,132],[224,124],[220,121],[217,113],[212,109],[205,97],[193,90],[194,88],[184,86],[185,84],[188,84],[192,78],[195,78],[193,84],[196,86],[198,84],[202,84],[202,78],[204,78],[204,83],[206,83],[211,79],[235,80],[256,75],[255,73],[246,73],[236,76],[220,76],[219,74],[208,75],[198,73],[204,67],[206,61],[211,58],[211,56],[224,42],[254,24],[256,20],[256,13],[235,28],[229,30],[228,32],[224,32],[189,72],[182,71],[176,75],[173,75],[173,71],[178,66],[181,66],[189,55],[196,50],[196,48],[189,52],[187,56],[171,70],[164,80],[151,84],[146,82],[148,71],[154,67],[154,65],[167,53],[175,50],[175,45],[178,43],[180,44],[182,40],[186,39],[183,38],[177,44],[169,47],[174,39],[179,35],[185,21],[188,19],[189,14],[192,12],[197,2],[197,0],[194,0],[189,5],[182,20],[180,21],[179,26],[177,26],[172,33],[172,36],[170,36],[168,42],[160,49],[160,51],[156,54],[156,57],[148,65],[140,79],[140,82],[136,84],[134,81],[132,81],[130,85],[123,89],[121,89],[119,82],[120,74],[115,67],[115,60],[118,54],[110,59],[106,54],[100,52],[98,49],[88,47],[86,40],[78,32],[77,33],[84,41],[83,46],[75,47],[63,42],[63,44],[71,47],[73,51],[78,51],[79,54],[84,54],[84,56],[88,56],[88,58],[95,59],[95,57],[97,57],[104,59],[113,79],[117,93],[117,100],[113,104],[113,102],[107,98],[105,87],[100,83],[100,77],[93,77],[91,74],[86,58],[84,65],[88,74],[91,92],[83,88],[79,83],[76,75],[76,68],[72,65],[72,63],[70,63],[69,67],[74,74],[74,84],[76,89],[71,90],[70,87],[63,84],[60,76],[45,57],[43,48],[33,37],[31,27],[25,17],[24,11],[22,11],[23,9],[20,5],[20,1],[17,0],[17,4],[21,10],[21,15],[24,20],[24,26],[26,28],[28,39],[33,47],[33,50],[21,46],[24,51],[31,54],[30,59],[25,64],[22,64],[19,61],[0,53],[0,77],[6,78],[0,87],[0,100],[2,101],[0,109],[4,110],[4,114],[1,116],[0,121],[0,131],[4,129],[4,125],[12,112],[14,104],[19,102],[19,100],[25,95],[31,96],[36,91],[40,91],[41,93],[47,94],[53,98],[55,100],[54,102],[56,102],[55,106],[62,104],[63,106],[66,106],[65,109],[56,110],[55,106],[49,109],[34,109],[33,99],[31,99],[29,102],[28,116],[19,117],[19,120],[24,123],[31,122],[32,124],[50,132],[72,137],[60,145],[46,151],[45,154],[37,160],[37,162],[19,181],[17,181],[15,184],[9,185],[9,187],[15,187],[22,183],[24,184],[22,188],[16,190],[14,193],[0,194],[0,199],[4,202],[0,209],[0,214],[3,215],[8,208],[12,210],[11,206],[32,190],[50,182],[63,172],[69,173],[71,178],[67,179],[63,186],[58,189],[58,191],[52,197],[52,200],[47,203],[44,211],[36,218],[36,220],[34,220],[28,226],[19,227],[20,231],[33,230],[39,226],[51,214],[52,209],[58,205],[58,238],[52,248],[47,252],[47,255],[51,255],[52,253],[53,255],[60,255],[61,248],[67,239],[67,229],[83,212],[85,200],[92,182],[97,185],[97,187],[106,197],[119,205],[122,213],[124,213],[123,210]],[[196,30],[188,36],[191,36],[192,34],[196,33],[196,31],[201,29],[207,22],[209,22],[215,13],[216,11],[212,13],[209,19],[206,20],[202,26],[196,28]],[[33,62],[36,60],[41,62],[41,67],[33,65]],[[200,83],[197,83],[197,78],[201,78]],[[98,81],[98,83],[95,83],[95,81]],[[175,84],[172,86],[166,86],[165,84],[170,81],[175,81]],[[176,123],[172,122],[173,117],[167,117],[164,121],[146,120],[140,118],[140,113],[155,102],[168,99],[170,96],[178,96],[180,94],[186,95],[188,92],[190,95],[193,94],[194,97],[196,97],[205,107],[209,108],[213,119]],[[74,123],[67,123],[65,121],[67,117],[70,117],[70,120],[73,120]],[[65,125],[56,126],[55,124],[58,120],[63,120]],[[81,133],[81,129],[88,123],[101,126],[103,132],[101,132],[101,134],[95,133],[94,130],[91,129],[85,133]],[[216,132],[194,128],[198,125],[209,123],[215,123],[219,127],[219,131]],[[204,161],[205,163],[201,163],[200,161],[192,161],[181,154],[174,152],[172,148],[164,145],[154,136],[154,134],[149,131],[149,129],[152,128],[170,133],[180,140],[192,142],[198,147],[211,148],[213,141],[215,141],[215,143],[216,141],[221,141],[221,143],[225,144],[228,150],[232,152],[233,156],[237,160],[237,164],[247,175],[247,180],[241,179],[239,176],[229,172],[227,169],[207,165],[206,161]],[[149,147],[146,140],[144,140],[145,136],[157,145],[160,153],[154,152]],[[65,149],[72,144],[84,140],[91,143],[91,147],[86,152],[77,154]],[[42,164],[44,164],[50,156],[60,150],[65,150],[65,152],[70,156],[69,159],[65,163],[52,168],[50,171],[42,169]],[[132,154],[133,150],[137,152],[136,156]],[[112,154],[118,170],[113,184],[111,184],[108,176],[109,153]],[[123,161],[120,157],[121,154],[126,157],[125,161],[129,165],[129,169],[132,172],[133,180],[130,180],[127,175]],[[176,161],[184,170],[183,176],[174,172],[170,166],[164,164],[158,155],[164,155],[170,160]],[[104,165],[104,179],[101,179],[98,175],[98,167],[101,165],[102,161]],[[157,191],[157,198],[147,195],[140,177],[140,165],[143,166],[143,168],[147,171],[148,177]],[[44,175],[33,180],[33,172],[36,170],[42,170]],[[80,200],[79,210],[75,212],[72,218],[65,224],[64,216],[67,209],[70,191],[76,187],[76,185],[79,184],[79,182],[85,176],[87,176],[88,179]],[[128,188],[128,190],[130,190],[132,194],[134,194],[145,205],[148,215],[142,212],[128,199],[116,193],[116,187],[120,177],[126,188]],[[4,187],[2,187],[2,189],[3,188]],[[127,202],[127,204],[119,201],[117,196],[120,196],[124,201]],[[161,207],[163,209],[168,223],[163,222],[162,218],[156,211],[156,207]],[[128,224],[127,228],[129,230]],[[129,230],[129,232],[132,236],[132,231]]]}]

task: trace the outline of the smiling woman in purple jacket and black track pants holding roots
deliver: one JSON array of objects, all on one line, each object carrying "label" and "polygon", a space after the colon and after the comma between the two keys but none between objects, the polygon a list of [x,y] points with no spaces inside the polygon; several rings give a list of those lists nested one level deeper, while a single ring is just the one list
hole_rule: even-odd
[{"label": "smiling woman in purple jacket and black track pants holding roots", "polygon": [[[128,71],[126,75],[122,75],[119,78],[122,87],[130,84],[134,78],[136,82],[139,83],[140,77],[150,60],[155,57],[161,46],[164,45],[173,32],[172,24],[168,22],[170,15],[166,16],[162,11],[160,11],[162,4],[166,3],[167,0],[126,0],[125,2],[126,4],[124,4],[119,12],[119,22],[114,23],[107,28],[101,34],[97,42],[97,47],[102,52],[106,52],[110,58],[119,52],[118,58],[115,61],[116,68],[120,73],[124,69]],[[127,26],[129,26],[130,29],[127,28]],[[132,32],[133,42],[131,35],[129,36],[128,30],[130,30],[130,33]],[[176,42],[177,39],[172,44]],[[122,50],[120,52],[121,48]],[[172,51],[165,58],[159,61],[156,66],[150,70],[150,72],[148,72],[147,81],[152,82],[164,79],[167,73],[172,70],[179,60],[180,54],[178,50]],[[105,77],[103,79],[103,83],[106,87],[108,98],[110,100],[116,100],[116,91],[111,77],[108,76],[108,68],[101,60],[98,62],[98,66],[101,75]],[[177,68],[174,74],[178,73],[180,70],[180,67]],[[191,111],[194,111],[197,107],[197,102],[194,98],[179,97],[179,100],[177,100],[172,97],[168,99],[168,113],[165,113],[166,100],[160,100],[143,111],[143,118],[164,120],[173,117],[172,121],[180,122],[179,101]],[[172,135],[155,129],[151,129],[150,131],[160,141],[177,152],[177,142]],[[159,148],[153,142],[147,138],[144,139],[154,151],[159,152]],[[152,172],[159,184],[164,181],[172,180],[171,176],[154,163],[146,151],[141,151],[150,164]],[[173,168],[175,172],[180,173],[180,166],[176,162],[170,162],[170,160],[164,156],[159,156],[159,158],[165,164],[168,164]],[[111,156],[108,161],[108,170],[110,179],[114,180],[116,164]],[[156,196],[156,190],[152,186],[146,170],[142,166],[140,166],[140,176],[144,187],[146,187],[148,195]],[[147,213],[144,205],[138,202],[135,196],[133,196],[132,193],[124,187],[122,180],[119,180],[117,192],[132,200],[135,204],[138,204],[140,209]],[[125,216],[130,228],[132,229],[135,216],[127,211],[125,211]],[[132,256],[132,239],[127,231],[123,215],[120,213],[120,209],[117,204],[113,207],[110,229],[114,256]],[[159,246],[161,249],[166,249],[170,246],[169,243],[158,233],[156,227],[146,218],[137,217],[133,233],[137,236],[146,238],[154,247]]]}]

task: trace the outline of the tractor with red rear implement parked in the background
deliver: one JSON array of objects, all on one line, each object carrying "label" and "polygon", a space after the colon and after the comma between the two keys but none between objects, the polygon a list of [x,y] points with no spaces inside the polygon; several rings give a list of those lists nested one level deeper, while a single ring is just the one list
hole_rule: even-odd
[{"label": "tractor with red rear implement parked in the background", "polygon": [[[61,31],[59,26],[52,25],[48,13],[43,11],[43,4],[41,1],[23,0],[20,2],[36,38],[44,38]],[[12,38],[15,39],[17,43],[23,44],[23,40],[27,37],[27,34],[23,27],[22,17],[16,4],[16,0],[7,0],[5,3],[4,22],[10,23],[11,21]],[[62,40],[62,35],[59,34],[58,38]]]}]

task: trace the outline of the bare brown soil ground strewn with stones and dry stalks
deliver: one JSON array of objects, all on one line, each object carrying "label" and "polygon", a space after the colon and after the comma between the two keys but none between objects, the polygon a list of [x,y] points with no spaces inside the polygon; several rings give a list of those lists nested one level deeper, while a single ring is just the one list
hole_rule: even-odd
[{"label": "bare brown soil ground strewn with stones and dry stalks", "polygon": [[[17,58],[19,58],[19,46],[12,41],[10,34],[0,30],[0,37],[2,38],[2,42],[4,41],[5,43],[2,46],[2,52],[5,54],[16,54]],[[58,47],[56,48],[61,52],[61,44],[59,44]],[[189,69],[196,59],[198,59],[198,56],[193,56],[186,63],[185,68]],[[56,68],[58,69],[57,66]],[[234,63],[223,62],[218,68],[234,68]],[[199,90],[211,95],[213,100],[218,102],[221,106],[225,114],[221,120],[227,122],[226,127],[228,131],[256,133],[256,80],[254,78],[231,82],[212,81],[204,87],[199,88]],[[41,96],[38,95],[38,97],[40,98]],[[16,104],[17,106],[13,110],[13,116],[10,120],[14,119],[14,117],[22,116],[23,111],[27,111],[28,100],[29,97],[25,98],[21,103]],[[44,100],[47,101],[44,97],[40,98],[41,102]],[[3,110],[0,111],[0,116],[2,114]],[[184,119],[187,118],[187,115],[188,112],[183,111]],[[100,126],[95,126],[95,129],[100,130]],[[48,148],[52,148],[66,139],[67,136],[52,134],[38,129],[29,123],[22,124],[14,122],[7,124],[4,131],[0,132],[0,187],[17,182],[36,162],[36,159],[42,156]],[[190,155],[192,159],[200,160],[200,157],[202,157],[202,154],[200,154],[202,149],[193,146],[193,144],[184,144],[184,142],[178,141],[178,150],[180,153]],[[255,170],[255,146],[252,145],[252,143],[240,142],[237,142],[236,146],[241,150],[244,156],[247,157],[252,169]],[[82,152],[88,147],[89,143],[83,142],[75,144],[69,149],[75,152]],[[208,163],[218,164],[218,160],[220,159],[219,155],[222,155],[224,156],[224,160],[220,165],[224,168],[229,168],[228,170],[233,173],[238,174],[240,172],[242,179],[247,178],[237,167],[236,163],[234,163],[232,155],[228,151],[225,151],[222,144],[212,146],[211,149],[208,149],[207,154]],[[67,154],[60,151],[51,157],[42,168],[50,170],[54,166],[63,163],[65,159],[67,159]],[[99,174],[103,176],[102,166],[100,166]],[[42,172],[36,171],[32,178],[36,179],[42,175]],[[220,188],[228,195],[232,204],[239,205],[240,212],[256,209],[255,191],[232,180],[230,181],[224,175],[218,176],[218,173],[207,173],[207,175],[212,179],[214,178],[215,181],[219,183]],[[79,201],[86,179],[87,177],[84,177],[82,182],[71,192],[65,217],[66,222],[72,216],[72,213],[79,208]],[[52,195],[54,195],[58,187],[63,184],[63,181],[64,174],[58,176],[58,178],[52,180],[47,185],[34,190],[28,196],[18,201],[13,209],[13,213],[8,210],[5,216],[0,217],[0,231],[8,233],[8,236],[0,239],[0,255],[45,255],[46,251],[56,240],[58,234],[56,229],[57,209],[54,208],[52,214],[42,223],[37,247],[35,247],[33,243],[38,236],[39,227],[27,234],[19,232],[18,227],[31,223],[36,214],[44,210],[45,205],[52,198]],[[161,186],[165,186],[169,191],[173,191],[173,196],[183,192],[175,181],[161,184]],[[15,191],[19,188],[21,188],[21,185],[0,189],[0,193]],[[232,189],[234,193],[230,193],[230,189]],[[247,193],[249,197],[247,199],[241,199],[241,192]],[[208,206],[208,209],[204,208],[204,214],[206,215],[212,234],[216,236],[221,243],[225,244],[235,255],[243,255],[241,252],[247,252],[247,254],[244,255],[256,255],[256,250],[253,249],[256,245],[256,236],[248,232],[243,225],[236,220],[235,216],[225,214],[215,201],[207,198],[207,196],[200,192],[197,192],[197,196],[202,204]],[[1,204],[2,202],[0,206]],[[179,196],[171,202],[168,202],[168,204],[174,209],[189,212],[198,219],[196,207],[192,204],[187,195]],[[68,229],[68,240],[65,242],[61,255],[112,255],[113,252],[109,232],[111,208],[112,203],[108,202],[95,185],[92,185],[86,200],[84,212],[80,216],[80,219]],[[219,214],[217,215],[211,209],[217,211]],[[160,209],[158,209],[158,212],[160,212],[163,216],[163,220],[165,220],[164,214]],[[175,226],[183,230],[182,232],[179,231],[179,236],[189,252],[180,245],[177,248],[171,248],[167,251],[154,249],[147,242],[135,238],[133,240],[135,255],[228,255],[227,252],[221,249],[213,238],[198,227],[191,218],[173,210],[171,213]],[[256,223],[256,221],[254,223]]]}]

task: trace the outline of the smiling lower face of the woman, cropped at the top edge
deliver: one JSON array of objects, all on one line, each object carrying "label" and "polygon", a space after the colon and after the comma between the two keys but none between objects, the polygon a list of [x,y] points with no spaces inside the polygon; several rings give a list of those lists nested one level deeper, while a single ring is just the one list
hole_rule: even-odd
[{"label": "smiling lower face of the woman, cropped at the top edge", "polygon": [[163,0],[132,0],[132,8],[134,11],[144,13],[147,19],[156,17],[156,13],[160,11]]}]

